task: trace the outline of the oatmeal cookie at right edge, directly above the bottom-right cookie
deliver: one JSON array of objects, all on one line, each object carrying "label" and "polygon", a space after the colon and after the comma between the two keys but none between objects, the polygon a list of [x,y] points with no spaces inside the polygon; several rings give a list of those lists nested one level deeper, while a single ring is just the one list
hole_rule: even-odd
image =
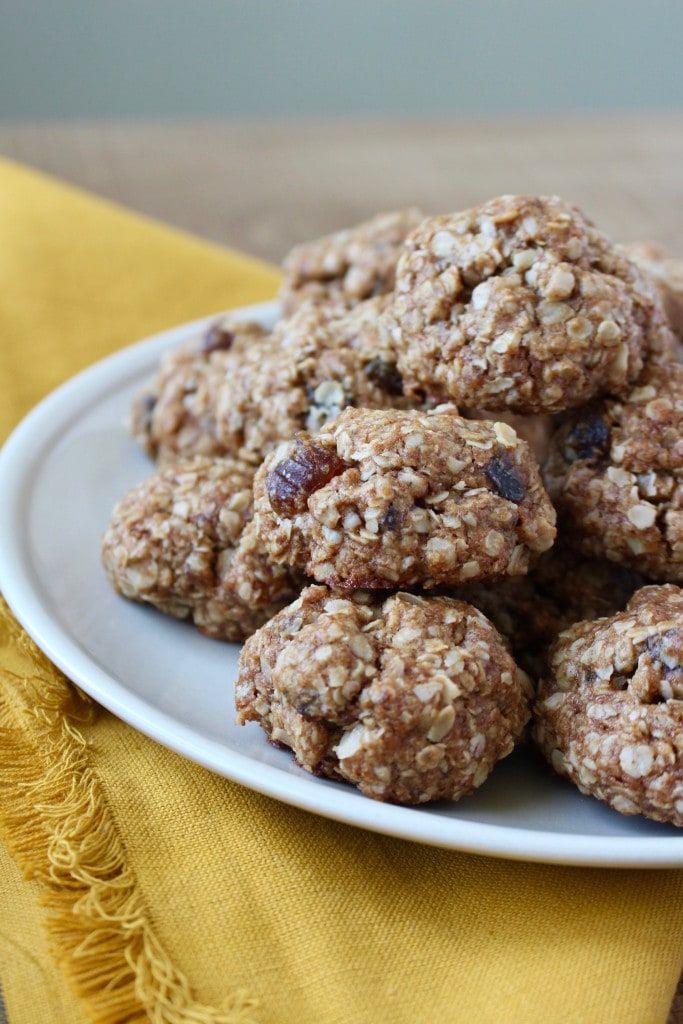
[{"label": "oatmeal cookie at right edge, directly above the bottom-right cookie", "polygon": [[568,418],[544,473],[563,536],[652,580],[683,581],[683,366]]}]

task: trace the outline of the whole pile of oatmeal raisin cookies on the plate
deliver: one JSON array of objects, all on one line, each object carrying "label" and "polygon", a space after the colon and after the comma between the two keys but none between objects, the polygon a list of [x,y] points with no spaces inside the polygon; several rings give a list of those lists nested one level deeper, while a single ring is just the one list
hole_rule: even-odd
[{"label": "whole pile of oatmeal raisin cookies on the plate", "polygon": [[308,771],[457,800],[532,717],[583,792],[683,825],[680,265],[504,196],[284,269],[272,332],[222,319],[135,400],[114,586],[246,639],[238,719]]}]

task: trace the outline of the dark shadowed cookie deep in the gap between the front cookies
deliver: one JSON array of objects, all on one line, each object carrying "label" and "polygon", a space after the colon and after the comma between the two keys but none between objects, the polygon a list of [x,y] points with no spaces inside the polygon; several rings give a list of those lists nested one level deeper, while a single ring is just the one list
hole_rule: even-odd
[{"label": "dark shadowed cookie deep in the gap between the front cookies", "polygon": [[460,587],[454,596],[479,608],[510,641],[518,664],[539,679],[559,633],[583,620],[622,611],[646,583],[624,565],[585,558],[559,543],[528,575]]}]

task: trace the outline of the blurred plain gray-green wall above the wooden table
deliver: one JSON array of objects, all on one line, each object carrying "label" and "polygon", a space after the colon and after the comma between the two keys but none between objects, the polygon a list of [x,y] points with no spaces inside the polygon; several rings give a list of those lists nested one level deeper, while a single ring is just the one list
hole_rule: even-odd
[{"label": "blurred plain gray-green wall above the wooden table", "polygon": [[683,0],[0,0],[0,119],[683,106]]}]

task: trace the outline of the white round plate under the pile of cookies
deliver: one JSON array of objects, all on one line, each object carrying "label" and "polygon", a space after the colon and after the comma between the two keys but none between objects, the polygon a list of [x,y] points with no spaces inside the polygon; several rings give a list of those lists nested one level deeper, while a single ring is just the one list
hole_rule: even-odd
[{"label": "white round plate under the pile of cookies", "polygon": [[[242,315],[270,325],[274,304]],[[111,590],[99,541],[114,503],[151,471],[128,436],[130,398],[166,349],[213,317],[167,331],[79,374],[38,406],[0,454],[0,588],[45,653],[115,715],[212,771],[340,821],[403,839],[564,864],[683,866],[673,826],[582,797],[529,750],[459,804],[395,807],[314,778],[233,724],[239,648]]]}]

